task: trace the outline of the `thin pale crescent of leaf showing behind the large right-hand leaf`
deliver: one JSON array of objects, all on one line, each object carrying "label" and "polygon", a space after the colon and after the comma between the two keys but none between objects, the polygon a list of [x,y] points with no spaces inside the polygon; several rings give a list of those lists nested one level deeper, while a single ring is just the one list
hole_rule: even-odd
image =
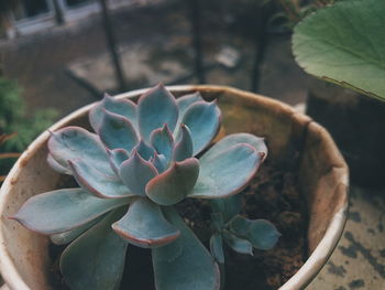
[{"label": "thin pale crescent of leaf showing behind the large right-hand leaf", "polygon": [[217,159],[218,155],[222,154],[229,148],[240,143],[246,143],[252,146],[256,150],[256,152],[261,155],[264,155],[265,159],[267,155],[267,147],[264,140],[264,138],[256,137],[251,133],[232,133],[224,137],[213,147],[211,147],[210,150],[205,152],[205,154],[199,159],[199,161],[202,163],[208,163],[211,160]]}]

